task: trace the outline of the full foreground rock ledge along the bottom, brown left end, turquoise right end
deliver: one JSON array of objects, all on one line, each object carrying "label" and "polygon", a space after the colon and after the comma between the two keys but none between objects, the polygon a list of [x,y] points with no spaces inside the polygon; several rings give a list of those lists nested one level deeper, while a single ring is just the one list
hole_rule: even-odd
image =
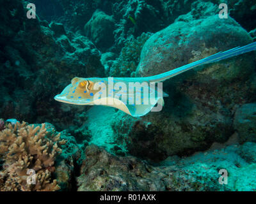
[{"label": "full foreground rock ledge along the bottom, brown left end, turquoise right end", "polygon": [[[90,145],[77,177],[78,191],[252,191],[256,187],[255,154],[248,154],[248,149],[254,146],[232,144],[191,157],[168,157],[152,166]],[[223,166],[228,171],[227,185],[219,183]]]}]

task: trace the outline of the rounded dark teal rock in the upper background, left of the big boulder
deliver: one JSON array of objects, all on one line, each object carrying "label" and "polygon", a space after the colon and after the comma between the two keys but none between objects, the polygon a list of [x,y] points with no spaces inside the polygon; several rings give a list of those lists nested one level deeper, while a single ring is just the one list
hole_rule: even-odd
[{"label": "rounded dark teal rock in the upper background, left of the big boulder", "polygon": [[84,25],[84,32],[99,48],[113,45],[115,20],[103,11],[96,10],[92,18]]}]

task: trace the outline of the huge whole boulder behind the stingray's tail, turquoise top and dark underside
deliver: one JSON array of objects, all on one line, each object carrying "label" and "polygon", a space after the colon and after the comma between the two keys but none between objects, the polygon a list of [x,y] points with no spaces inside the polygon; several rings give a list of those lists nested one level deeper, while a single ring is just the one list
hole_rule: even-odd
[{"label": "huge whole boulder behind the stingray's tail, turquoise top and dark underside", "polygon": [[[211,12],[209,12],[211,14]],[[252,42],[232,18],[218,15],[194,19],[180,17],[145,43],[137,74],[164,73],[221,50]],[[182,19],[192,20],[182,20]],[[159,161],[174,154],[205,150],[213,142],[225,142],[234,133],[232,116],[237,104],[252,101],[253,53],[196,68],[164,82],[161,112],[140,119],[116,113],[113,129],[127,143],[129,153]],[[118,115],[119,114],[119,115]],[[123,127],[123,128],[120,128]]]}]

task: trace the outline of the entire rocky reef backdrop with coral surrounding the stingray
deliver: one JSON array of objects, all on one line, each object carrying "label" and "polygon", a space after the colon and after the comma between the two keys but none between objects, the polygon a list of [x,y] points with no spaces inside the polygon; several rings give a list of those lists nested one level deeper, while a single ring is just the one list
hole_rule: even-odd
[{"label": "entire rocky reef backdrop with coral surrounding the stingray", "polygon": [[166,80],[143,117],[54,100],[74,77],[148,77],[252,43],[255,0],[0,5],[0,191],[256,191],[255,52]]}]

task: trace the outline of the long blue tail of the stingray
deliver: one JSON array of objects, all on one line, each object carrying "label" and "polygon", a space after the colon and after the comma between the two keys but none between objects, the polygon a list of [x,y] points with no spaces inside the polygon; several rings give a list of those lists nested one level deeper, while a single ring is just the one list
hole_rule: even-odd
[{"label": "long blue tail of the stingray", "polygon": [[145,77],[150,82],[163,82],[164,80],[179,75],[184,71],[188,71],[189,69],[195,68],[196,66],[200,66],[203,64],[209,64],[212,62],[218,62],[223,59],[228,59],[229,57],[234,57],[236,55],[241,55],[246,52],[251,52],[256,50],[256,42],[250,43],[249,45],[245,45],[243,47],[232,48],[231,50],[227,50],[225,52],[218,52],[217,54],[211,55],[209,57],[205,57],[204,59],[200,59],[199,61],[192,62],[190,64],[186,64],[181,66],[180,68],[173,69],[171,71],[167,71],[165,73],[155,75],[152,77]]}]

